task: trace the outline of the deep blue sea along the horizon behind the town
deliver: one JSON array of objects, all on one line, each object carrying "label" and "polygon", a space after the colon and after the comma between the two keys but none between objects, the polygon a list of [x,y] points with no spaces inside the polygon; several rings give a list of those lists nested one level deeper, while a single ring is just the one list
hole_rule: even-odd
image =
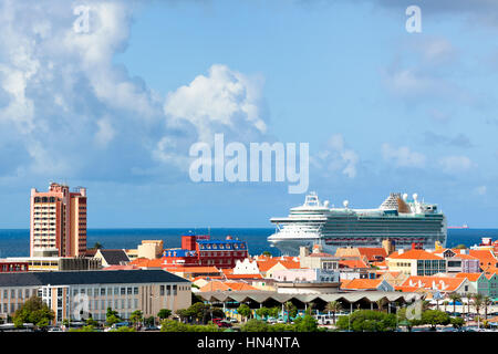
[{"label": "deep blue sea along the horizon behind the town", "polygon": [[[273,256],[280,256],[276,248],[271,248],[267,241],[273,228],[234,228],[234,229],[89,229],[87,247],[100,242],[107,249],[136,248],[142,240],[164,240],[165,248],[181,246],[181,235],[194,231],[196,233],[210,233],[212,239],[225,239],[231,236],[234,239],[247,241],[250,254],[260,254],[270,251]],[[466,246],[478,244],[483,237],[498,239],[498,229],[448,229],[447,247],[464,243]],[[30,230],[28,229],[0,229],[0,258],[29,256]]]}]

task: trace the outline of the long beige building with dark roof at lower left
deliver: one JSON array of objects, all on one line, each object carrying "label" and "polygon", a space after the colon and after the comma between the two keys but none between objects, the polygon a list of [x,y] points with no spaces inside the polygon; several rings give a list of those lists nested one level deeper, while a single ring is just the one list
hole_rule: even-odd
[{"label": "long beige building with dark roof at lower left", "polygon": [[[38,295],[53,310],[54,323],[65,319],[105,321],[107,308],[129,319],[141,310],[156,316],[191,304],[190,282],[163,270],[27,272],[0,274],[0,316],[12,315]],[[83,314],[81,314],[83,312]]]}]

